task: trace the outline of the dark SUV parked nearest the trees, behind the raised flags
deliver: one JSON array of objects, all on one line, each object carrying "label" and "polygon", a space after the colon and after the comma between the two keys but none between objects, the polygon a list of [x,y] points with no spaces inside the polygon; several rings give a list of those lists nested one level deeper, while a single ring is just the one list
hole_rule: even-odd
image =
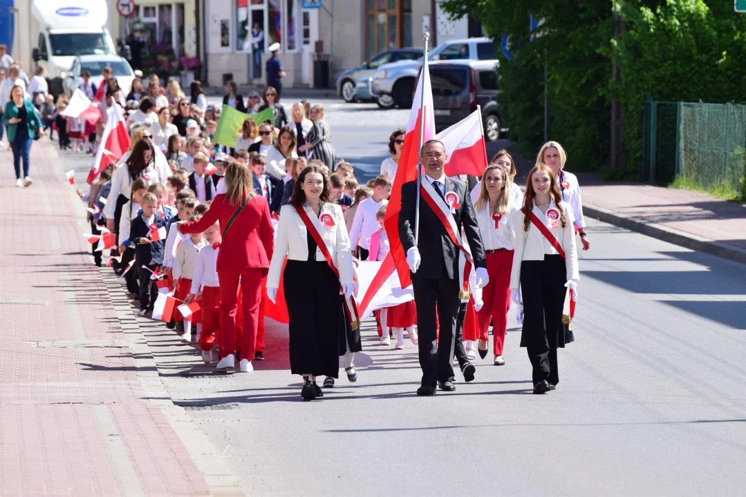
[{"label": "dark SUV parked nearest the trees, behind the raised flags", "polygon": [[502,119],[497,67],[497,60],[448,60],[428,64],[438,131],[466,118],[479,105],[486,140],[494,142],[500,138]]}]

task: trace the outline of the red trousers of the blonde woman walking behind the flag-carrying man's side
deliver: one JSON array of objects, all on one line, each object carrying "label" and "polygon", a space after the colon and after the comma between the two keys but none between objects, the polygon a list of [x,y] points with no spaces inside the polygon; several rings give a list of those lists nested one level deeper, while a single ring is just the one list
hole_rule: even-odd
[{"label": "red trousers of the blonde woman walking behind the flag-carrying man's side", "polygon": [[489,321],[492,320],[492,342],[495,355],[503,355],[505,332],[510,309],[510,269],[513,268],[513,250],[488,253],[487,273],[489,283],[482,290],[484,306],[477,313],[480,340],[488,340]]}]

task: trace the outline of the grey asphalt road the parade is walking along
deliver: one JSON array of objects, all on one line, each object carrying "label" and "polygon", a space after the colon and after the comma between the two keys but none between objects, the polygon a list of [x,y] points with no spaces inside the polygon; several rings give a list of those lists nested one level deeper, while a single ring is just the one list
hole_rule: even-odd
[{"label": "grey asphalt road the parade is walking along", "polygon": [[[407,116],[373,108],[327,105],[339,156],[366,171]],[[81,180],[90,159],[70,165]],[[504,367],[477,360],[473,383],[430,398],[415,395],[416,348],[377,345],[366,323],[360,381],[315,402],[276,323],[248,375],[210,375],[175,333],[143,332],[172,399],[250,495],[742,495],[746,267],[597,221],[587,232],[576,341],[545,396],[530,393],[514,320]]]}]

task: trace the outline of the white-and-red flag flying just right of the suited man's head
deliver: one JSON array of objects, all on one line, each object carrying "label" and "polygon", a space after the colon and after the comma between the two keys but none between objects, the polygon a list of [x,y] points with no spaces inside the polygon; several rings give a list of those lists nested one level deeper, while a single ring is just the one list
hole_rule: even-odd
[{"label": "white-and-red flag flying just right of the suited man's head", "polygon": [[448,154],[448,162],[445,163],[446,176],[482,176],[487,168],[487,148],[479,110],[442,130],[435,138],[443,142],[445,153]]}]

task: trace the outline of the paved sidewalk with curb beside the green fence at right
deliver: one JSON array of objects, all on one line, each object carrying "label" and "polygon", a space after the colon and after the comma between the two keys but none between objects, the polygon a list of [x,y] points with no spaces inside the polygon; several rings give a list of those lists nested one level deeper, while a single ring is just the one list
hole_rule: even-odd
[{"label": "paved sidewalk with curb beside the green fence at right", "polygon": [[586,216],[746,262],[746,205],[684,189],[580,178]]}]

